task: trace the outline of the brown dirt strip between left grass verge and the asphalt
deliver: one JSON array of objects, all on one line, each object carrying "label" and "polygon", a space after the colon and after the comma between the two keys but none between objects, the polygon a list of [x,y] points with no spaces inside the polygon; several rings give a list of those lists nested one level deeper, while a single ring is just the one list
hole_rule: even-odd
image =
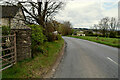
[{"label": "brown dirt strip between left grass verge and the asphalt", "polygon": [[51,66],[50,70],[43,76],[43,78],[52,78],[53,77],[56,69],[58,68],[58,66],[62,60],[65,48],[66,48],[66,42],[64,40],[64,44],[63,44],[62,48],[60,49],[60,51],[58,52],[58,56],[56,58],[55,63]]}]

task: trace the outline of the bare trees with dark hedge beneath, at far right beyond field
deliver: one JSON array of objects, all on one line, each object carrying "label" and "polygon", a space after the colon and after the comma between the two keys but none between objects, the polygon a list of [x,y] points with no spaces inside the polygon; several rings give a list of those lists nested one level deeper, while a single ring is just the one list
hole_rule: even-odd
[{"label": "bare trees with dark hedge beneath, at far right beyond field", "polygon": [[98,24],[94,24],[93,29],[102,33],[103,37],[116,37],[119,32],[119,21],[114,17],[102,18]]}]

